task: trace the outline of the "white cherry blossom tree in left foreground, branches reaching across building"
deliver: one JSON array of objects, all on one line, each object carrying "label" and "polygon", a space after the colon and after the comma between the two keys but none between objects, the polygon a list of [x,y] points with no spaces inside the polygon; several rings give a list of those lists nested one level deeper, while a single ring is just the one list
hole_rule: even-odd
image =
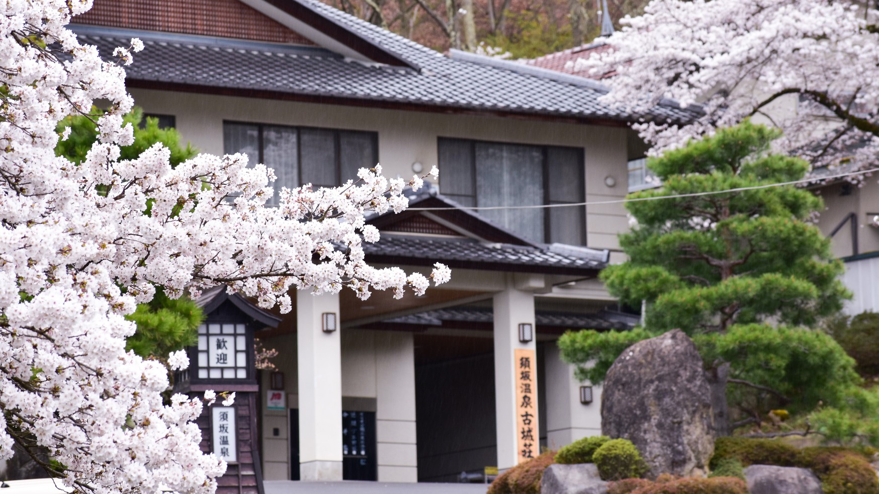
[{"label": "white cherry blossom tree in left foreground, branches reaching across building", "polygon": [[[275,208],[265,207],[272,171],[247,156],[171,168],[156,144],[120,159],[133,139],[121,65],[143,46],[134,39],[102,61],[65,27],[90,7],[0,4],[0,458],[16,443],[47,451],[51,461],[35,459],[84,492],[212,492],[226,466],[201,453],[193,419],[216,396],[163,404],[166,369],[125,351],[125,316],[156,287],[197,297],[225,285],[282,311],[293,288],[423,293],[427,277],[367,265],[361,248],[379,239],[364,214],[402,211],[406,183],[376,166],[334,189],[282,189]],[[95,100],[108,109],[90,114],[100,134],[86,159],[55,156],[69,135],[57,123]],[[448,280],[447,267],[431,278]],[[188,362],[177,352],[169,364]]]}]

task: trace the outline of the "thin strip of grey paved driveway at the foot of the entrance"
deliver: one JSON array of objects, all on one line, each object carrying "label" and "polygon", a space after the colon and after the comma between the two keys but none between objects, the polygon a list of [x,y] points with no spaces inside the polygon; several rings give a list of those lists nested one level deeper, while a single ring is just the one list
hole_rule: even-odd
[{"label": "thin strip of grey paved driveway at the foot of the entrance", "polygon": [[265,494],[485,494],[484,483],[294,482],[266,480]]}]

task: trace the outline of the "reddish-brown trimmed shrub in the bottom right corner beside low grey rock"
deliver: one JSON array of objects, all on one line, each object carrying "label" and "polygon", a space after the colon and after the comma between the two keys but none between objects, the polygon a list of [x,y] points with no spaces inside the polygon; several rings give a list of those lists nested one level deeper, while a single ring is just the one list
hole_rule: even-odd
[{"label": "reddish-brown trimmed shrub in the bottom right corner beside low grey rock", "polygon": [[842,447],[806,447],[798,462],[821,479],[825,494],[879,494],[879,478],[863,454]]}]

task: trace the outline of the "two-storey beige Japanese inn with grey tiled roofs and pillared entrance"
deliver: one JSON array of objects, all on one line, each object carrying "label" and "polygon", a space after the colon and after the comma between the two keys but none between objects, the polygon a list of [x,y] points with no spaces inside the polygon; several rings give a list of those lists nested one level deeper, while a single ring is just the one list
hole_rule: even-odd
[{"label": "two-storey beige Japanese inn with grey tiled roofs and pillared entrance", "polygon": [[[622,259],[624,208],[455,207],[619,200],[643,185],[628,123],[692,113],[621,113],[595,81],[440,54],[316,0],[95,0],[73,23],[108,58],[143,40],[126,69],[144,113],[203,152],[266,163],[278,187],[439,166],[410,194],[422,209],[368,219],[381,241],[367,261],[425,273],[439,261],[450,283],[399,301],[292,294],[286,315],[224,290],[199,299],[207,321],[177,387],[237,393],[200,422],[205,450],[229,461],[221,492],[456,482],[599,433],[601,391],[556,339],[637,322],[597,278]],[[276,371],[253,367],[254,338],[278,350]]]}]

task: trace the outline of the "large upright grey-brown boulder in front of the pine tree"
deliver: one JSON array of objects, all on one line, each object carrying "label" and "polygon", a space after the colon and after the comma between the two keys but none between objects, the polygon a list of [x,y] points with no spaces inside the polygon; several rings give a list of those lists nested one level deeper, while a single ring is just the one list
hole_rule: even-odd
[{"label": "large upright grey-brown boulder in front of the pine tree", "polygon": [[607,371],[601,432],[632,441],[649,476],[705,476],[714,454],[711,389],[693,341],[669,331],[622,352]]}]

